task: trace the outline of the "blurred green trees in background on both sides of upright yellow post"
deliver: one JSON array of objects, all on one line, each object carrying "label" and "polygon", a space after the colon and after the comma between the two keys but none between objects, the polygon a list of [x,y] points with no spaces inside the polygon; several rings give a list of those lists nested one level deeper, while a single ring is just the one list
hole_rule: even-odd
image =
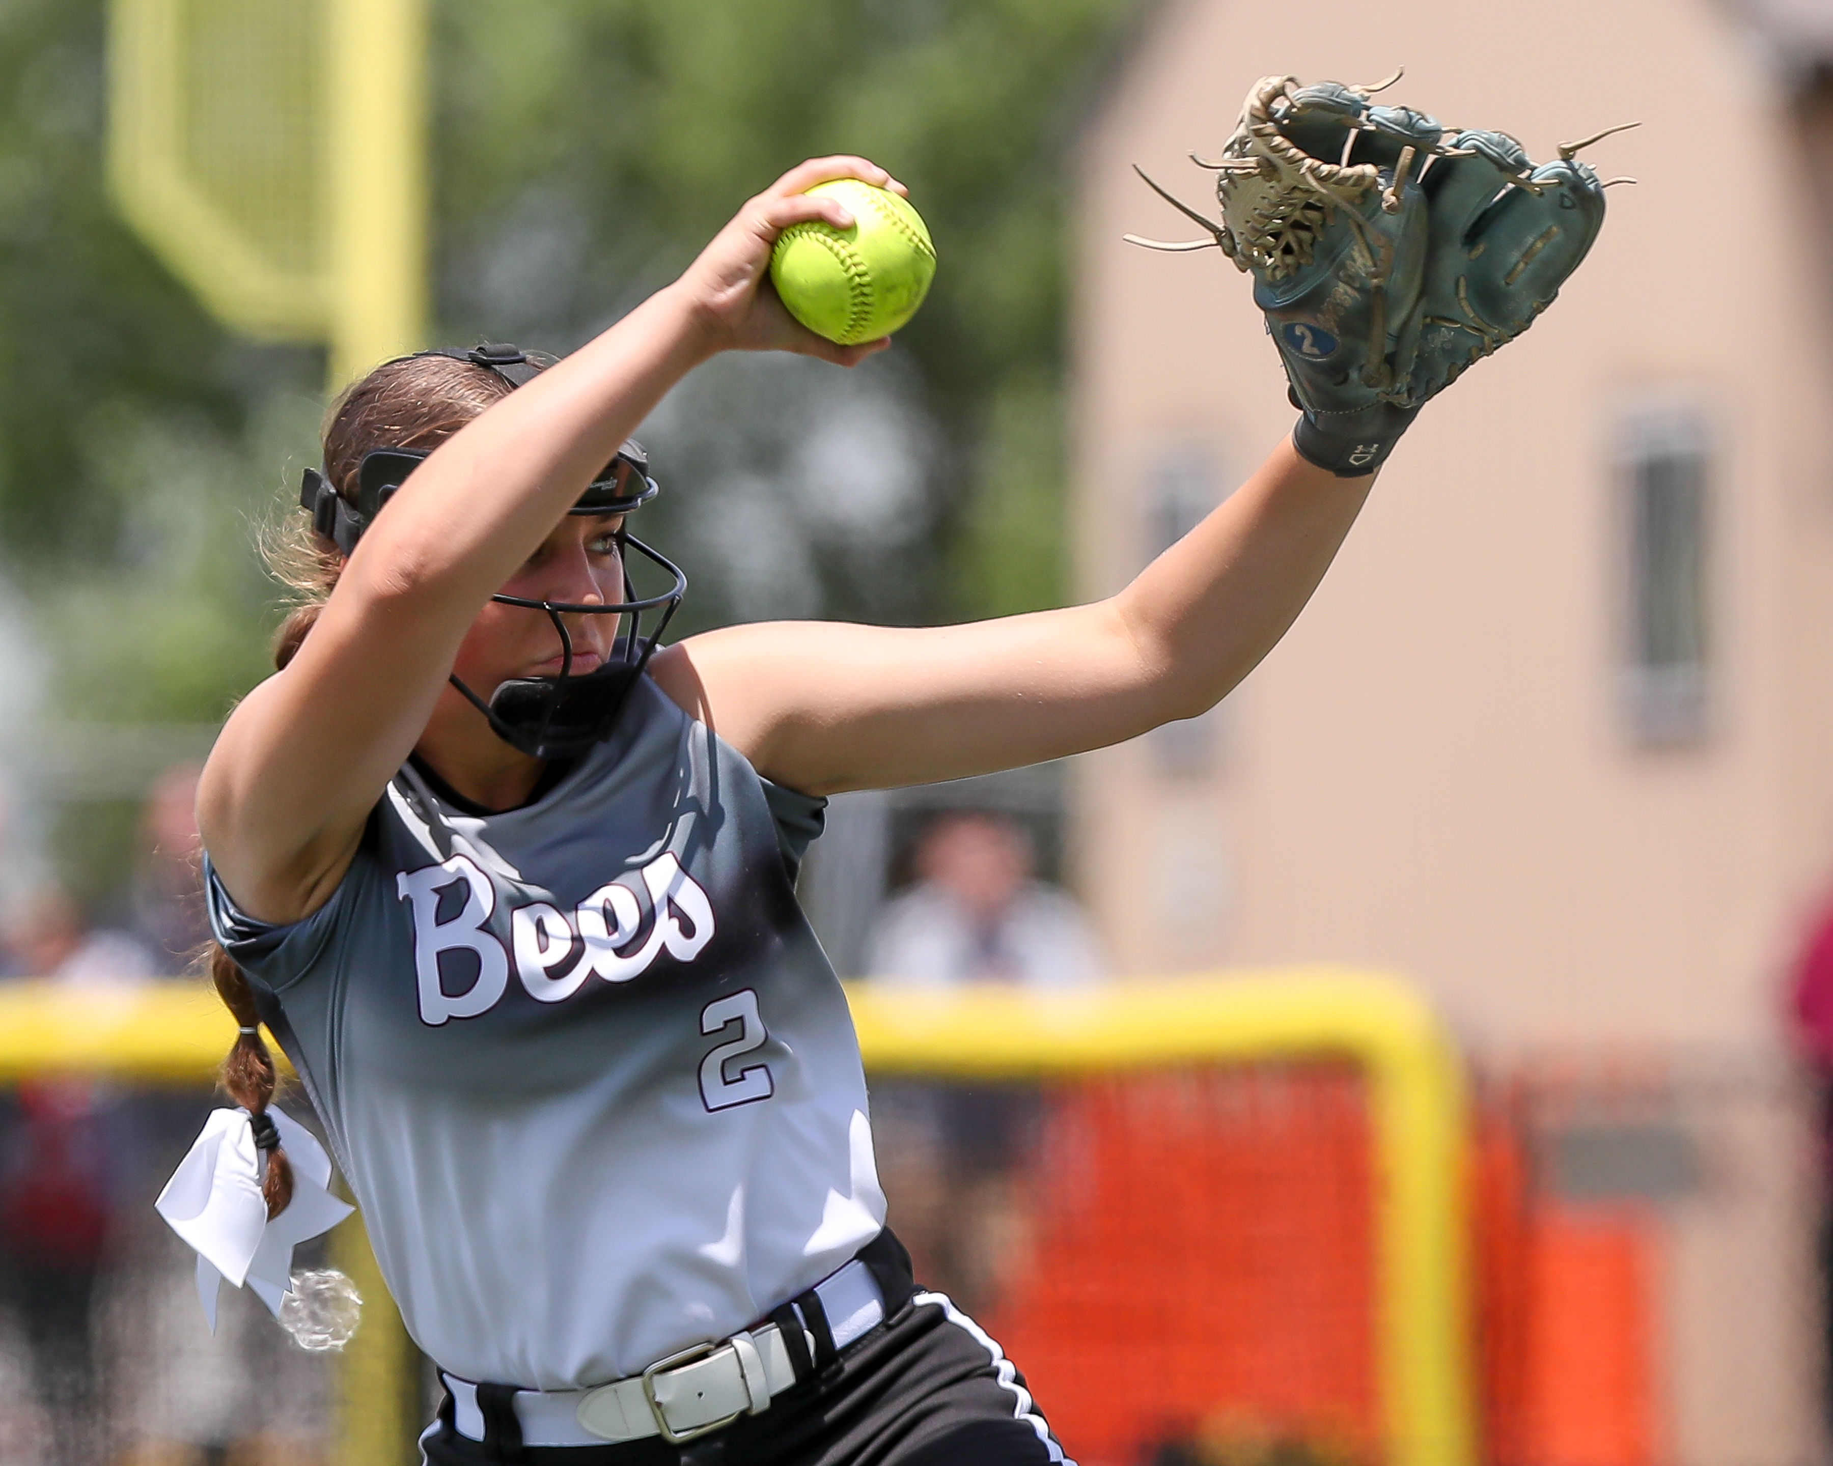
[{"label": "blurred green trees in background on both sides of upright yellow post", "polygon": [[[1142,5],[434,0],[438,335],[570,350],[797,159],[876,158],[940,251],[898,350],[726,359],[645,427],[680,625],[1054,603],[1065,154]],[[115,214],[103,18],[0,5],[0,577],[59,713],[213,720],[268,665],[251,530],[315,454],[324,366],[229,337]]]}]

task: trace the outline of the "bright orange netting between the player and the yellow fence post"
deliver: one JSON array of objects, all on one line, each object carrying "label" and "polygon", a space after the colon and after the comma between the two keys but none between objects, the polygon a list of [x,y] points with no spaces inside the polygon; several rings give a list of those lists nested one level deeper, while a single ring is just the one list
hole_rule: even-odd
[{"label": "bright orange netting between the player and the yellow fence post", "polygon": [[1366,1087],[1334,1067],[1094,1079],[1047,1096],[1036,1266],[988,1327],[1070,1453],[1219,1437],[1369,1457]]}]

